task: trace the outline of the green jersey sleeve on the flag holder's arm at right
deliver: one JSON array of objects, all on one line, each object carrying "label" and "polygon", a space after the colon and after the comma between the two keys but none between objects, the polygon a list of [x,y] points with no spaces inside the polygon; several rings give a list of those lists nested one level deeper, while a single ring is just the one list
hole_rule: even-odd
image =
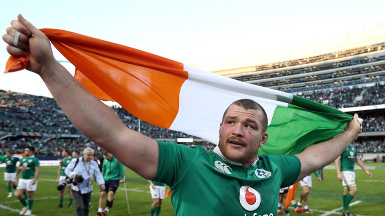
[{"label": "green jersey sleeve on the flag holder's arm at right", "polygon": [[299,160],[299,158],[295,155],[274,155],[272,156],[272,158],[273,157],[275,157],[274,160],[277,163],[278,167],[281,169],[281,188],[294,184],[301,171],[301,161]]}]

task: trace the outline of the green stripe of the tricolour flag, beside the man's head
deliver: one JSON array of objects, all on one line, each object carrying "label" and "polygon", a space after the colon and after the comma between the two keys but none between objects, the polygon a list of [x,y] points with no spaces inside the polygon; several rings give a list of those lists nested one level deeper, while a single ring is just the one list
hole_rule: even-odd
[{"label": "green stripe of the tricolour flag, beside the man's head", "polygon": [[276,107],[267,129],[268,141],[259,154],[299,153],[338,135],[352,118],[336,108],[294,96],[288,107]]}]

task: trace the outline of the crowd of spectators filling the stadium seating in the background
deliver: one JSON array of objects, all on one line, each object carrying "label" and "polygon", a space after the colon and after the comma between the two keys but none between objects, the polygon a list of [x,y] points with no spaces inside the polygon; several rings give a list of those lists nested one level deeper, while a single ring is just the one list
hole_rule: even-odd
[{"label": "crowd of spectators filling the stadium seating in the background", "polygon": [[[328,88],[304,92],[301,96],[336,108],[383,104],[385,103],[384,87],[384,84],[375,83],[369,87]],[[113,106],[112,108],[127,127],[138,131],[138,118],[121,107]],[[364,123],[363,131],[385,131],[384,115],[365,116]],[[194,136],[159,128],[144,121],[141,121],[140,129],[141,133],[155,139],[194,138]],[[81,135],[53,98],[0,90],[0,133],[17,131],[39,132],[42,136],[18,136],[3,139],[0,140],[0,150],[12,148],[23,151],[21,146],[26,145],[35,146],[38,155],[60,155],[60,149],[63,147],[70,150],[81,150],[84,145],[93,147],[97,153],[101,150]],[[77,136],[61,138],[60,134]],[[215,146],[210,142],[194,144],[201,144],[209,150]],[[356,144],[359,144],[359,149],[364,152],[378,152],[385,149],[383,142],[366,141]]]}]

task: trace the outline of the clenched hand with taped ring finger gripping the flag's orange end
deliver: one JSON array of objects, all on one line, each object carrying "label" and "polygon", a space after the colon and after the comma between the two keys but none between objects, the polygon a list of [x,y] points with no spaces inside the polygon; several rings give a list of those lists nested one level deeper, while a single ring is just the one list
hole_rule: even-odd
[{"label": "clenched hand with taped ring finger gripping the flag's orange end", "polygon": [[[3,35],[3,40],[8,43],[7,51],[12,55],[25,56],[29,52],[30,61],[27,69],[40,74],[44,68],[56,62],[48,37],[27,21],[21,14],[17,20],[11,21],[11,27]],[[21,33],[17,46],[13,45],[15,31]]]}]

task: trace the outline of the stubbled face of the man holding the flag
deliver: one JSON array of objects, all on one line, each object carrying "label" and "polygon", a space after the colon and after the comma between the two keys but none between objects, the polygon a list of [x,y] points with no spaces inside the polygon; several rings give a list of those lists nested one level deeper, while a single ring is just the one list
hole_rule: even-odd
[{"label": "stubbled face of the man holding the flag", "polygon": [[257,159],[258,148],[267,141],[262,131],[260,110],[230,105],[219,129],[219,148],[223,155],[235,162],[247,163]]}]

